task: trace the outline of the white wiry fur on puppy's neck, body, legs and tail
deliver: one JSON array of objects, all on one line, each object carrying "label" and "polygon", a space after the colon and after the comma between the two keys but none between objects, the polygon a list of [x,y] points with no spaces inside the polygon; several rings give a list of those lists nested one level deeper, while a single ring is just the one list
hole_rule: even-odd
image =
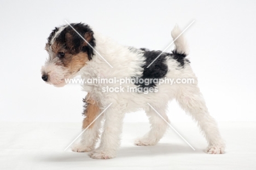
[{"label": "white wiry fur on puppy's neck, body, legs and tail", "polygon": [[[173,39],[179,33],[181,33],[179,28],[175,27],[172,31]],[[82,78],[125,78],[136,77],[136,75],[142,74],[143,70],[141,66],[144,64],[145,58],[139,50],[131,52],[129,47],[119,45],[99,33],[95,33],[94,36],[96,39],[95,50],[111,63],[113,68],[101,56],[95,54],[92,60],[88,62],[88,65],[84,66],[80,71]],[[178,52],[188,54],[188,48],[182,36],[174,44]],[[225,145],[220,137],[216,121],[208,113],[205,101],[200,93],[199,87],[197,87],[197,78],[189,62],[186,62],[184,67],[180,68],[176,60],[168,58],[167,66],[167,78],[194,78],[194,84],[161,84],[157,86],[158,92],[149,92],[148,94],[136,92],[102,92],[102,87],[119,87],[119,84],[83,85],[84,90],[90,92],[90,97],[101,103],[102,106],[106,107],[110,103],[113,103],[102,116],[105,121],[101,144],[99,148],[90,153],[92,158],[109,159],[115,157],[118,146],[120,145],[124,114],[135,112],[139,108],[143,108],[146,111],[152,128],[143,137],[137,139],[135,144],[155,145],[158,143],[166,131],[167,124],[155,113],[149,104],[167,120],[167,103],[173,98],[177,100],[185,112],[189,113],[197,121],[208,142],[207,153],[224,153]],[[136,87],[134,84],[123,84],[122,86]],[[98,128],[100,128],[100,120],[101,118],[96,121],[98,126],[84,132],[82,142],[74,145],[73,150],[79,150],[79,148],[83,150],[86,146],[95,145]],[[88,138],[92,138],[92,140],[88,140]]]}]

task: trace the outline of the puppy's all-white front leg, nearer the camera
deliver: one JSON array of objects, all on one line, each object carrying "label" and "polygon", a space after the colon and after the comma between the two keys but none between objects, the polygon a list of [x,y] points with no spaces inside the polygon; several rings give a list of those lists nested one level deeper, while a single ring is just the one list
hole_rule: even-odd
[{"label": "puppy's all-white front leg, nearer the camera", "polygon": [[124,113],[117,104],[112,104],[104,112],[104,131],[100,146],[89,156],[93,159],[112,159],[117,155],[120,146],[120,134],[123,129]]}]

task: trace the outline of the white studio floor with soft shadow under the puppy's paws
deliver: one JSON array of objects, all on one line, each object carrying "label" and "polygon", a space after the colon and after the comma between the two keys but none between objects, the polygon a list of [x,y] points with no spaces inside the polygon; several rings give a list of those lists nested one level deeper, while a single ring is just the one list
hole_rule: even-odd
[{"label": "white studio floor with soft shadow under the puppy's paws", "polygon": [[206,140],[193,122],[172,126],[195,151],[171,128],[159,144],[135,146],[149,124],[126,122],[119,154],[111,160],[64,151],[81,123],[0,123],[0,169],[256,169],[256,122],[219,122],[227,145],[223,155],[203,152]]}]

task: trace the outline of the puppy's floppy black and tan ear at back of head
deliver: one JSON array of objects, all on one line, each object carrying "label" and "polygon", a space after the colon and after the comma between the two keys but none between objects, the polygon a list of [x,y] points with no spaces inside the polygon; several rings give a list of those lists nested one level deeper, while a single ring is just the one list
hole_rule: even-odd
[{"label": "puppy's floppy black and tan ear at back of head", "polygon": [[92,49],[92,47],[94,48],[94,46],[95,46],[95,41],[94,41],[95,39],[94,39],[94,37],[93,37],[93,33],[92,33],[92,32],[86,32],[86,33],[84,34],[84,39],[85,39],[86,42],[88,42],[89,44],[84,41],[81,50],[82,50],[83,52],[86,52],[87,55],[88,55],[89,60],[91,60],[92,55],[94,55],[94,49]]}]

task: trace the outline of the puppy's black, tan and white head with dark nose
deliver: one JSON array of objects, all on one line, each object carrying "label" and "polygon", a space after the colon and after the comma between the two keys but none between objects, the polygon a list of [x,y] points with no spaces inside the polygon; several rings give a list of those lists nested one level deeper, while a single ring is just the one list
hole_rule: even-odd
[{"label": "puppy's black, tan and white head with dark nose", "polygon": [[73,78],[94,55],[91,46],[95,47],[95,39],[91,28],[81,23],[71,26],[55,27],[45,45],[49,58],[41,69],[42,79],[57,87],[66,85],[65,79]]}]

